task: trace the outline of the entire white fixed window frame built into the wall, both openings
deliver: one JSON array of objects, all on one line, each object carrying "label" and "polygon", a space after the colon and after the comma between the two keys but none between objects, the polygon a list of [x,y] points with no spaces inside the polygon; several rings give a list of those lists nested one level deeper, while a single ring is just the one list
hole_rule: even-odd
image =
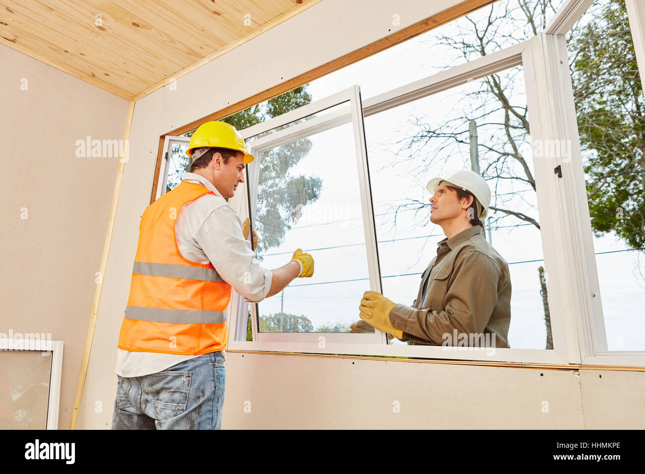
[{"label": "entire white fixed window frame built into the wall, both openings", "polygon": [[[645,5],[639,5],[637,0],[624,1],[628,10],[639,72],[642,83],[645,84],[645,28],[641,21],[645,18]],[[593,235],[586,202],[586,186],[571,75],[568,70],[568,51],[564,37],[592,4],[593,0],[568,0],[546,28],[527,41],[362,101],[362,112],[364,117],[367,117],[392,108],[395,104],[403,104],[458,86],[469,79],[479,79],[520,64],[523,66],[531,138],[534,140],[564,139],[570,140],[572,144],[571,159],[568,162],[561,163],[555,157],[545,158],[540,163],[533,161],[536,183],[539,183],[537,200],[542,227],[544,266],[548,269],[546,285],[550,297],[553,350],[499,348],[496,349],[494,356],[474,357],[475,351],[470,348],[448,348],[446,353],[446,350],[436,346],[330,342],[323,348],[319,347],[318,341],[245,341],[246,317],[244,321],[237,318],[237,324],[232,331],[234,337],[230,337],[228,349],[469,359],[490,361],[493,364],[503,361],[526,364],[645,366],[645,351],[606,350],[602,304],[597,291],[599,285],[593,251]],[[563,67],[558,67],[560,61]],[[301,112],[293,110],[241,132],[245,138],[248,138],[260,133],[257,130],[262,130],[272,121],[273,124],[288,123],[295,120],[294,117]],[[166,141],[168,138],[184,139],[185,137],[166,135]],[[167,150],[167,144],[164,146]],[[554,173],[554,168],[558,164],[562,166],[562,179],[557,178]],[[163,170],[164,166],[161,166],[161,169]],[[160,172],[160,177],[162,173]],[[246,173],[249,173],[248,167]],[[243,192],[236,193],[230,200],[230,204],[242,219],[248,215],[248,211],[244,213],[249,203],[250,190],[247,183],[248,179],[243,184]],[[596,293],[598,297],[592,297],[592,293]],[[229,306],[230,314],[235,304],[240,302],[235,294],[233,291]],[[553,311],[554,308],[555,311]]]}]

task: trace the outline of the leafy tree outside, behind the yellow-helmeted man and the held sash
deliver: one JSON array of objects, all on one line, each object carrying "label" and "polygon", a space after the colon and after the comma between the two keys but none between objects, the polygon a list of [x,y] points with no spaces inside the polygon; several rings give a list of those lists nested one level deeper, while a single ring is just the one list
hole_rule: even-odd
[{"label": "leafy tree outside, behind the yellow-helmeted man and the held sash", "polygon": [[[307,84],[304,84],[264,103],[221,119],[221,121],[232,124],[237,130],[243,130],[310,103],[312,96],[306,89]],[[184,136],[190,137],[192,132],[188,132]],[[321,179],[302,174],[293,175],[290,171],[293,166],[306,157],[311,147],[312,143],[309,139],[299,139],[268,150],[268,152],[262,153],[261,157],[256,157],[256,164],[261,161],[254,222],[255,228],[261,236],[258,244],[259,259],[269,248],[280,246],[284,241],[286,231],[297,222],[300,215],[299,209],[320,197],[323,186]],[[172,150],[172,157],[178,164],[175,165],[175,170],[169,172],[166,191],[177,186],[181,182],[183,174],[190,170],[190,161],[184,150],[185,146],[179,145],[175,145]],[[250,166],[253,166],[253,163]]]}]

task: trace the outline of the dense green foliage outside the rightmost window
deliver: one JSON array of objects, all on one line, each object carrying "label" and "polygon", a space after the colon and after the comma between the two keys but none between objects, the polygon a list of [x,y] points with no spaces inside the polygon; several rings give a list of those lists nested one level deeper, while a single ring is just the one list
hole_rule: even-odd
[{"label": "dense green foliage outside the rightmost window", "polygon": [[645,97],[624,1],[607,0],[569,50],[591,228],[645,247]]}]

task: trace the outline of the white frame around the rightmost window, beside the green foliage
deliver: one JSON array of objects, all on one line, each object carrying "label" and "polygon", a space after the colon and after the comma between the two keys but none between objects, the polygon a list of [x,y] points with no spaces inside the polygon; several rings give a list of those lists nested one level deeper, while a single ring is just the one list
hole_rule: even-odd
[{"label": "white frame around the rightmost window, beside the green foliage", "polygon": [[[542,92],[550,100],[542,100],[541,112],[551,108],[552,129],[544,132],[554,139],[571,140],[571,159],[563,161],[562,179],[551,183],[550,192],[559,196],[562,206],[558,218],[568,232],[564,237],[564,252],[561,258],[568,266],[570,275],[567,292],[572,296],[568,319],[567,335],[577,335],[580,341],[582,364],[606,366],[645,366],[645,351],[609,351],[605,333],[600,285],[591,233],[591,217],[586,198],[584,169],[577,128],[575,103],[568,66],[568,51],[565,35],[581,18],[595,0],[569,0],[559,10],[544,33],[539,35],[544,44],[544,57],[538,61],[544,64],[542,74],[546,84]],[[639,74],[645,84],[645,5],[640,0],[624,0],[634,44]],[[548,115],[545,115],[548,117]],[[548,128],[548,127],[545,127]],[[533,130],[533,123],[531,123]],[[560,163],[558,163],[560,164]],[[553,162],[553,166],[557,166]],[[553,179],[551,179],[553,181]]]}]

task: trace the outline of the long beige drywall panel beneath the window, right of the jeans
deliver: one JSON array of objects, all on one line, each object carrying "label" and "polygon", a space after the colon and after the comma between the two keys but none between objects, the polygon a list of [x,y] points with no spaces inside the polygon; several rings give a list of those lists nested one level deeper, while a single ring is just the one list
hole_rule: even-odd
[{"label": "long beige drywall panel beneath the window, right of the jeans", "polygon": [[573,370],[229,352],[222,428],[559,430],[584,420]]}]

